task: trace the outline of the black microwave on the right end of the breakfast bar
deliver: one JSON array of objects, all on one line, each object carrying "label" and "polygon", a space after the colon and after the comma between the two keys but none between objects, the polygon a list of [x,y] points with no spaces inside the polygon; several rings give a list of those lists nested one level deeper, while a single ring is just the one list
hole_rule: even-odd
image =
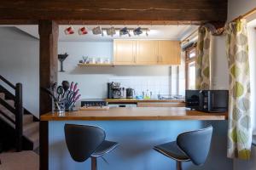
[{"label": "black microwave on the right end of the breakfast bar", "polygon": [[186,90],[186,107],[197,111],[225,112],[229,107],[228,90]]}]

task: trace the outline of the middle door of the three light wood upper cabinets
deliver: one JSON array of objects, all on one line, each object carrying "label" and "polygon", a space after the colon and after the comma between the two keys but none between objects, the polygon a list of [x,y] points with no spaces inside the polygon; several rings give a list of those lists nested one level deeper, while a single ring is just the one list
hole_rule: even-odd
[{"label": "middle door of the three light wood upper cabinets", "polygon": [[156,65],[157,64],[158,41],[139,40],[137,41],[136,64]]}]

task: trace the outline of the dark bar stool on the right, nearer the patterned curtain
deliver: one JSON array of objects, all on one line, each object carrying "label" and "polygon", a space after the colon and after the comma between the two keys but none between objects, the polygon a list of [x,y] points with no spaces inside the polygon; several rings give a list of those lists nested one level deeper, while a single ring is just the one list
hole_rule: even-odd
[{"label": "dark bar stool on the right, nearer the patterned curtain", "polygon": [[182,161],[192,161],[201,166],[207,160],[212,141],[212,126],[181,133],[177,140],[154,146],[154,150],[176,161],[177,170],[182,170]]}]

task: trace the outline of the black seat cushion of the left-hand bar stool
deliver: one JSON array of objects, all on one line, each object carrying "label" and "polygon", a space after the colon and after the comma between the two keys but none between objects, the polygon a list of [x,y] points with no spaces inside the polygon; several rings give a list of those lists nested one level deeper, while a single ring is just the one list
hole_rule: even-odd
[{"label": "black seat cushion of the left-hand bar stool", "polygon": [[97,149],[91,154],[92,157],[99,157],[107,154],[111,150],[114,150],[119,144],[117,142],[112,142],[108,140],[104,140],[101,145],[97,147]]}]

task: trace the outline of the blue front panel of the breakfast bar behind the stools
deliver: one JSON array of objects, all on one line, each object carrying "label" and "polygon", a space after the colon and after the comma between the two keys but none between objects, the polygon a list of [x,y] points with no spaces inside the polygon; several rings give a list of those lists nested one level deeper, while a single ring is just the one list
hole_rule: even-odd
[{"label": "blue front panel of the breakfast bar behind the stools", "polygon": [[[175,161],[152,148],[176,140],[179,133],[207,127],[212,124],[212,146],[207,162],[196,167],[191,162],[183,163],[184,170],[231,170],[232,160],[226,157],[226,121],[67,121],[49,122],[49,170],[90,169],[90,159],[82,163],[73,161],[67,150],[64,137],[65,123],[102,127],[107,139],[119,142],[116,150],[98,159],[98,170],[171,170]],[[193,147],[193,146],[191,146]]]}]

